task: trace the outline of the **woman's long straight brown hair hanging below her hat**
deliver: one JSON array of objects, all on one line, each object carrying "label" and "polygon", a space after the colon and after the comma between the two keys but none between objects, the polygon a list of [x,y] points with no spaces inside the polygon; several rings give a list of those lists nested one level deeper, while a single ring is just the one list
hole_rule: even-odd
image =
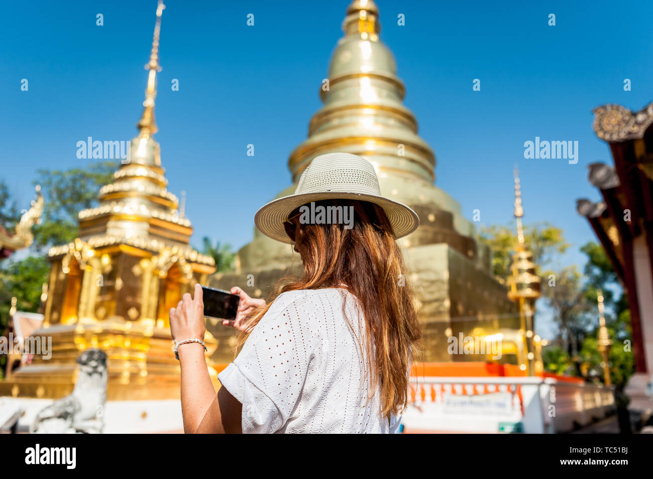
[{"label": "woman's long straight brown hair hanging below her hat", "polygon": [[382,416],[398,414],[407,405],[409,366],[413,348],[421,338],[402,252],[381,207],[367,201],[342,199],[316,201],[315,206],[352,206],[353,227],[298,225],[296,248],[304,261],[304,273],[300,278],[288,273],[279,280],[266,306],[246,319],[247,327],[240,332],[236,349],[240,349],[281,293],[345,284],[358,298],[365,321],[372,394],[380,386]]}]

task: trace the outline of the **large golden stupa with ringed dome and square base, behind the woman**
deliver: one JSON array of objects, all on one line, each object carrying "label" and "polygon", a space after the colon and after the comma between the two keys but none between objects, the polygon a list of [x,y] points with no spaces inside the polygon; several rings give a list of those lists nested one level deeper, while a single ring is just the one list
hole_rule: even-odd
[{"label": "large golden stupa with ringed dome and square base, behind the woman", "polygon": [[[319,154],[349,152],[369,160],[381,193],[406,203],[420,218],[417,231],[400,244],[408,279],[421,301],[423,359],[479,360],[447,354],[447,338],[479,325],[490,332],[518,329],[517,305],[492,276],[490,251],[477,241],[460,205],[434,185],[434,152],[417,134],[417,120],[402,103],[404,83],[397,76],[392,53],[379,38],[379,9],[374,1],[353,1],[342,29],[344,36],[320,87],[324,106],[313,115],[306,141],[290,154],[293,184],[277,197],[295,192],[302,171]],[[211,284],[224,289],[239,285],[250,295],[264,297],[288,269],[291,255],[289,245],[255,230],[253,241],[236,255],[236,271],[212,276]],[[233,343],[232,332],[217,326],[212,333],[221,340],[214,360],[230,360],[232,353],[226,346]]]}]

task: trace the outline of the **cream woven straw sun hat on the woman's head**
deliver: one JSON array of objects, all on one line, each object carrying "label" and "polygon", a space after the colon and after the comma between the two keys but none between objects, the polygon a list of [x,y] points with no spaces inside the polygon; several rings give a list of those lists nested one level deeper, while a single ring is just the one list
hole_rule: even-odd
[{"label": "cream woven straw sun hat on the woman's head", "polygon": [[294,195],[270,201],[256,212],[254,222],[264,235],[292,244],[283,227],[296,208],[321,199],[358,199],[385,211],[394,237],[401,238],[419,226],[417,214],[398,201],[381,196],[379,179],[368,160],[349,153],[316,156],[306,167]]}]

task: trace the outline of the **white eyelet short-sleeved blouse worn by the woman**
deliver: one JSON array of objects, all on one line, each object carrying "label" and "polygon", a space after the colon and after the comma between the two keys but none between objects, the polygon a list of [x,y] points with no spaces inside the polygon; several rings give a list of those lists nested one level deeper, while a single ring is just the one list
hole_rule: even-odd
[{"label": "white eyelet short-sleeved blouse worn by the woman", "polygon": [[400,417],[381,417],[378,389],[368,401],[364,327],[346,289],[279,295],[218,375],[242,403],[243,432],[397,433]]}]

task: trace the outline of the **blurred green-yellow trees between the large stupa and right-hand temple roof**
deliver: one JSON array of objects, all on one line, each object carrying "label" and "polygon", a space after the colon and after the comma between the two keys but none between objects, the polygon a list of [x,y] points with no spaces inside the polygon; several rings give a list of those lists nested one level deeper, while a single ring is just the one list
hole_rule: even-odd
[{"label": "blurred green-yellow trees between the large stupa and right-hand temple roof", "polygon": [[[517,238],[515,227],[492,225],[481,229],[481,241],[492,250],[492,268],[500,282],[511,275]],[[536,270],[542,278],[542,301],[553,312],[556,338],[543,350],[545,370],[573,374],[601,381],[603,358],[597,349],[599,313],[597,297],[603,293],[605,319],[613,341],[609,351],[611,381],[620,391],[633,373],[632,352],[624,347],[631,340],[628,298],[605,250],[596,242],[581,247],[587,257],[582,270],[577,265],[560,267],[555,261],[569,244],[563,231],[548,223],[524,225],[524,242],[533,252]],[[582,272],[581,272],[582,271]]]}]

